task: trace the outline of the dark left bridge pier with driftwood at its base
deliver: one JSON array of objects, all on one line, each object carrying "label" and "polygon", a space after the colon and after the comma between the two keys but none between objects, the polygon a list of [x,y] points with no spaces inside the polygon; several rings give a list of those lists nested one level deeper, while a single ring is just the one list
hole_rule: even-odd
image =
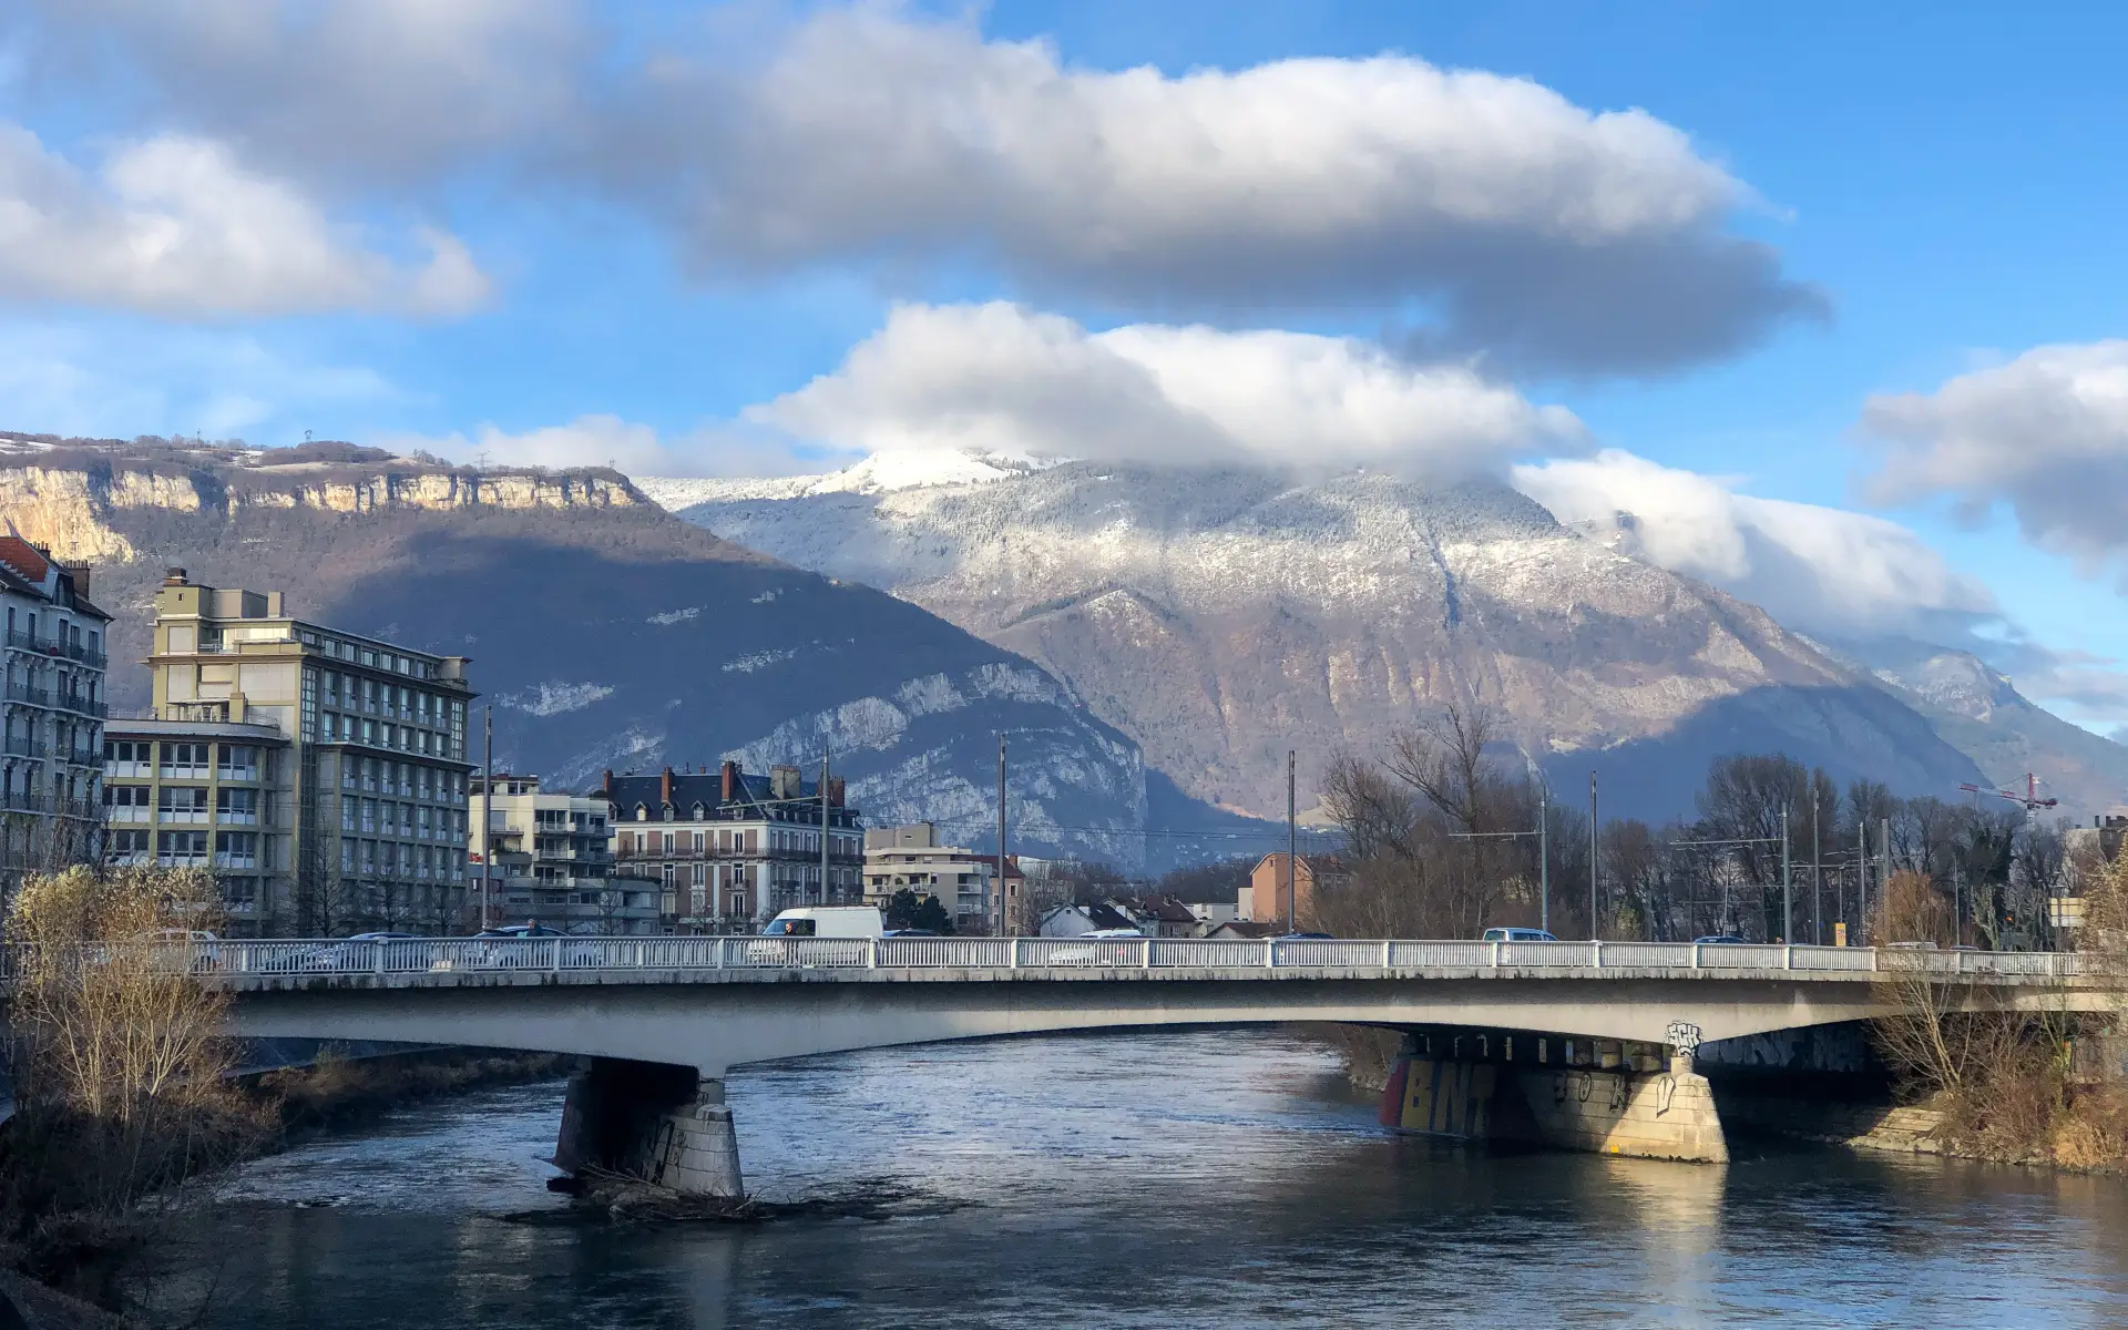
[{"label": "dark left bridge pier with driftwood at its base", "polygon": [[615,1173],[681,1196],[747,1194],[724,1081],[664,1062],[592,1058],[570,1077],[553,1166],[579,1179]]}]

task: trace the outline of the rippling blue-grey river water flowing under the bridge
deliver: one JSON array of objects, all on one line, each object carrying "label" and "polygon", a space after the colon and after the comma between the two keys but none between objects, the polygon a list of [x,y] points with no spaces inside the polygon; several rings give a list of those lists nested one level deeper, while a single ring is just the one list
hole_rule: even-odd
[{"label": "rippling blue-grey river water flowing under the bridge", "polygon": [[728,1094],[755,1194],[868,1213],[589,1221],[543,1187],[562,1085],[494,1090],[238,1173],[189,1228],[202,1324],[2128,1324],[2128,1183],[1462,1149],[1383,1132],[1279,1032],[885,1049]]}]

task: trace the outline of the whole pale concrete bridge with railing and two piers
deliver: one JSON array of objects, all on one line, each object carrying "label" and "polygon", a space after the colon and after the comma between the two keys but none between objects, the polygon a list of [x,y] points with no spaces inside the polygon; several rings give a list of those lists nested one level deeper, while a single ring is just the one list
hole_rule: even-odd
[{"label": "whole pale concrete bridge with railing and two piers", "polygon": [[[2119,987],[2077,953],[1404,938],[223,941],[189,964],[234,994],[245,1036],[592,1058],[555,1162],[713,1196],[741,1194],[721,1083],[749,1062],[1094,1028],[1468,1032],[1407,1045],[1396,1126],[1513,1119],[1562,1145],[1722,1160],[1702,1041],[1888,1015],[1915,981],[1971,1011],[2113,1011]],[[1579,1077],[1573,1107],[1562,1077]]]}]

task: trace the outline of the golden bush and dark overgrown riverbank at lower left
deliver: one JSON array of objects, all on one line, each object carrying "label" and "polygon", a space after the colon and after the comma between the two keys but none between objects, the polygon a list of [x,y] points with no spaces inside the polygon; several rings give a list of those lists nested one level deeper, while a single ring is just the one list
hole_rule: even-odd
[{"label": "golden bush and dark overgrown riverbank at lower left", "polygon": [[562,1058],[445,1053],[232,1079],[230,998],[198,958],[153,945],[221,924],[200,868],[30,875],[15,945],[0,1128],[0,1266],[106,1309],[155,1304],[168,1228],[217,1173],[406,1098],[562,1075]]}]

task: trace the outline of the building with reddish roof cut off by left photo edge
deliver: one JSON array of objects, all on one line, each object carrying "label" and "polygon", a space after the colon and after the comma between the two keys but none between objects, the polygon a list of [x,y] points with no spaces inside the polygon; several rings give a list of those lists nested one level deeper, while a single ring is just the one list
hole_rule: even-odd
[{"label": "building with reddish roof cut off by left photo edge", "polygon": [[0,872],[102,853],[104,634],[89,568],[0,536],[6,692],[0,702]]}]

